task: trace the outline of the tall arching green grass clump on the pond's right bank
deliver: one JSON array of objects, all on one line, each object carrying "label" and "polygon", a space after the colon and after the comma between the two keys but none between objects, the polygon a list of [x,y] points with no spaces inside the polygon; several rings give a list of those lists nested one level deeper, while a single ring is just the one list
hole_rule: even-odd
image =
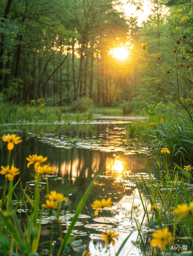
[{"label": "tall arching green grass clump on the pond's right bank", "polygon": [[169,158],[192,162],[193,127],[185,116],[182,118],[178,115],[177,118],[163,114],[149,117],[145,123],[137,121],[128,124],[127,137],[137,137],[146,142],[156,156],[161,154],[162,148],[167,147]]}]

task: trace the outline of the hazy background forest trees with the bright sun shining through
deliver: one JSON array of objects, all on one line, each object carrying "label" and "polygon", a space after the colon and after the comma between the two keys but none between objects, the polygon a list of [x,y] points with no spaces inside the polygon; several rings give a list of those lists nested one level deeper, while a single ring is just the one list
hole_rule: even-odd
[{"label": "hazy background forest trees with the bright sun shining through", "polygon": [[168,101],[145,69],[132,40],[147,42],[151,56],[174,65],[169,29],[177,17],[179,36],[192,66],[192,2],[149,0],[149,16],[138,23],[145,3],[92,0],[4,0],[0,10],[0,93],[4,102],[69,105],[89,97],[98,106],[128,102],[133,108]]}]

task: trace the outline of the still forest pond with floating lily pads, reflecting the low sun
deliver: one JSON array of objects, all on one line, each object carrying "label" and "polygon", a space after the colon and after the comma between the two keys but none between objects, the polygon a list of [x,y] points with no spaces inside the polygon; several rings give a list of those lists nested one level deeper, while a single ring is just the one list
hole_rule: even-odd
[{"label": "still forest pond with floating lily pads, reflecting the low sun", "polygon": [[[148,179],[145,167],[144,153],[149,149],[146,145],[139,144],[136,140],[127,141],[125,125],[128,121],[109,121],[99,124],[76,124],[76,125],[11,125],[2,126],[1,134],[14,133],[23,137],[23,145],[15,146],[13,155],[17,167],[20,169],[18,177],[22,177],[22,184],[28,184],[33,191],[33,166],[27,168],[26,157],[32,154],[47,156],[46,163],[55,168],[53,176],[49,177],[49,188],[62,193],[70,200],[68,209],[62,208],[61,225],[63,232],[67,232],[70,221],[76,210],[78,202],[83,196],[92,178],[97,174],[97,181],[85,204],[81,215],[74,227],[72,235],[78,235],[82,244],[92,255],[115,255],[123,240],[132,233],[126,246],[120,255],[142,255],[141,243],[135,246],[138,239],[138,231],[134,218],[131,218],[132,204],[133,215],[138,225],[144,217],[144,210],[136,187],[135,178],[140,175]],[[2,142],[1,142],[2,143]],[[6,165],[8,151],[5,143],[1,144],[1,165]],[[154,176],[154,169],[152,169]],[[55,176],[57,175],[57,176]],[[17,177],[17,178],[18,178]],[[4,184],[4,177],[0,177],[1,187]],[[16,182],[16,178],[14,180]],[[27,182],[27,183],[26,183]],[[41,178],[42,189],[40,203],[45,203],[46,179]],[[20,197],[18,186],[17,196]],[[143,201],[146,203],[149,212],[151,207],[144,191],[141,190]],[[135,195],[135,198],[134,198]],[[94,217],[94,209],[91,203],[101,198],[111,198],[113,207],[99,211]],[[26,205],[18,209],[21,219],[25,219]],[[143,221],[142,233],[144,236],[150,230]],[[59,229],[56,220],[50,217],[46,211],[41,219],[41,242],[49,241],[51,228],[53,227],[54,239],[56,242],[55,252],[59,246],[57,238]],[[110,250],[105,250],[105,242],[101,241],[101,231],[115,230],[119,239]],[[43,248],[49,248],[46,244]],[[75,256],[80,252],[73,251],[65,254]],[[46,254],[45,254],[46,255]]]}]

